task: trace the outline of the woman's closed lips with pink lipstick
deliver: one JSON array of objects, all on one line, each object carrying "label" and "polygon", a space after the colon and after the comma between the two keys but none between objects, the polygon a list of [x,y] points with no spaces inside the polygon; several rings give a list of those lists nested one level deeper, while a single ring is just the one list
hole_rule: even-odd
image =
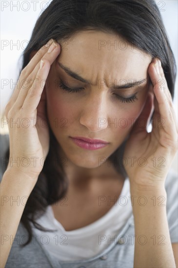
[{"label": "woman's closed lips with pink lipstick", "polygon": [[85,137],[70,137],[72,141],[80,148],[87,150],[98,150],[109,144],[109,142],[100,139],[89,139]]}]

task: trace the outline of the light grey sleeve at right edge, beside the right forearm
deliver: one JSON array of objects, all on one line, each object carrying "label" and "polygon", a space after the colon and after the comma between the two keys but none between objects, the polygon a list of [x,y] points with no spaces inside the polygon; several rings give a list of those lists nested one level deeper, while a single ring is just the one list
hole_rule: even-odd
[{"label": "light grey sleeve at right edge, beside the right forearm", "polygon": [[170,170],[166,177],[166,211],[171,243],[178,243],[178,174]]}]

